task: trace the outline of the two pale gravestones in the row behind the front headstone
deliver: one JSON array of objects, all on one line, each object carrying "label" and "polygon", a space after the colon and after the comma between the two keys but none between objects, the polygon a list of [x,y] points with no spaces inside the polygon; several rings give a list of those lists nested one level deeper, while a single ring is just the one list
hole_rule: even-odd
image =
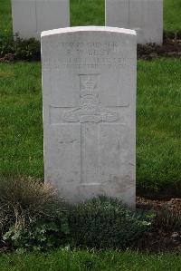
[{"label": "two pale gravestones in the row behind the front headstone", "polygon": [[[134,29],[138,44],[162,44],[163,0],[106,0],[106,25]],[[70,26],[70,0],[12,0],[14,36]]]}]

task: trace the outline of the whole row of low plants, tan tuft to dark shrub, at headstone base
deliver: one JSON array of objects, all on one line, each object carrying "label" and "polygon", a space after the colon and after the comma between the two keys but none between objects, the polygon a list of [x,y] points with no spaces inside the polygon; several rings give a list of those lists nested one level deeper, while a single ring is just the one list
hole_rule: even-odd
[{"label": "whole row of low plants, tan tuft to dark shrub, at headstone base", "polygon": [[0,179],[0,246],[15,250],[135,247],[153,225],[165,223],[160,219],[153,211],[133,211],[103,196],[68,206],[49,184]]}]

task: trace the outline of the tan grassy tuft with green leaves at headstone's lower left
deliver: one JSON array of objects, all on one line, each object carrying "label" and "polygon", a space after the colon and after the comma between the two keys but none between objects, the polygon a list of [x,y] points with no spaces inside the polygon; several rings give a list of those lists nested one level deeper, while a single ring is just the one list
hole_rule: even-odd
[{"label": "tan grassy tuft with green leaves at headstone's lower left", "polygon": [[65,203],[49,184],[34,179],[0,179],[0,234],[8,247],[60,247],[68,233]]}]

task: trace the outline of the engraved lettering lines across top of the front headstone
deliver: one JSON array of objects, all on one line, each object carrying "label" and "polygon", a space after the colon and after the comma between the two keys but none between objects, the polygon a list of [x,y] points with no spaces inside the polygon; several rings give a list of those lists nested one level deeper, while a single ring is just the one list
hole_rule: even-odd
[{"label": "engraved lettering lines across top of the front headstone", "polygon": [[56,59],[43,62],[43,69],[95,69],[108,68],[113,70],[129,67],[132,69],[135,59],[125,57],[122,48],[125,44],[115,41],[84,42],[84,43],[57,43],[63,51],[62,59],[59,55]]}]

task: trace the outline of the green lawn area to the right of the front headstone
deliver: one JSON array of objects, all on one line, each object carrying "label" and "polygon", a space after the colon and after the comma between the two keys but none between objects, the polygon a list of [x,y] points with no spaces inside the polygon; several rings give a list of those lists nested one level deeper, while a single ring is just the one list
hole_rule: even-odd
[{"label": "green lawn area to the right of the front headstone", "polygon": [[[181,188],[181,62],[138,62],[138,188]],[[177,189],[175,196],[180,196]]]}]

